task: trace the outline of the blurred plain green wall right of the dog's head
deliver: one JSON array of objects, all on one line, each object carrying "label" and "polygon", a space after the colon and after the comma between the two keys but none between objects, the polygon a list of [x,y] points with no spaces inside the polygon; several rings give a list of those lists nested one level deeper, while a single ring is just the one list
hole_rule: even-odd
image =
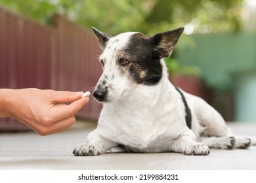
[{"label": "blurred plain green wall right of the dog's head", "polygon": [[[233,87],[233,76],[256,69],[255,33],[191,35],[196,46],[178,54],[186,65],[198,65],[203,79],[217,90]],[[182,39],[182,37],[181,37]]]}]

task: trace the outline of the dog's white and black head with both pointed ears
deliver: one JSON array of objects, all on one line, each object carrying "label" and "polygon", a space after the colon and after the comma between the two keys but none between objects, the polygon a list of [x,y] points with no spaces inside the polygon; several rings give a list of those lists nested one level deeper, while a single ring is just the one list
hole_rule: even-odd
[{"label": "dog's white and black head with both pointed ears", "polygon": [[160,59],[171,55],[183,29],[153,37],[136,32],[112,37],[93,27],[102,48],[99,61],[103,67],[93,94],[96,100],[103,103],[118,101],[138,85],[158,84],[163,72]]}]

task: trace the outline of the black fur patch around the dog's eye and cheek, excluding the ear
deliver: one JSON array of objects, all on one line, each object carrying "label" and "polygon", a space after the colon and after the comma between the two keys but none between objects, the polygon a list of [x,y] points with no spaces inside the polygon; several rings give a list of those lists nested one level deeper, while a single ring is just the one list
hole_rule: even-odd
[{"label": "black fur patch around the dog's eye and cheek, excluding the ear", "polygon": [[152,54],[150,37],[142,33],[136,33],[129,39],[129,43],[122,50],[127,56],[129,76],[137,84],[156,85],[162,76],[160,58]]}]

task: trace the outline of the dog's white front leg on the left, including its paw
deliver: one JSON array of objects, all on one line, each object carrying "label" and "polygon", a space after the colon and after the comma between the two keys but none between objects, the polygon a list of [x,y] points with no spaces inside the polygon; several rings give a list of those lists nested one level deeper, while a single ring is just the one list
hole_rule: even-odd
[{"label": "dog's white front leg on the left, including its paw", "polygon": [[103,154],[117,143],[102,137],[97,131],[89,133],[87,144],[79,144],[74,150],[75,156],[96,156]]}]

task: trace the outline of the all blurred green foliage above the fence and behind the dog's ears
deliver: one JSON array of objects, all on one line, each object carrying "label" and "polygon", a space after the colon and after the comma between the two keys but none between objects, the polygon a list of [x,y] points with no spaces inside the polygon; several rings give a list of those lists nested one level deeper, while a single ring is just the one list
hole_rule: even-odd
[{"label": "all blurred green foliage above the fence and behind the dog's ears", "polygon": [[[243,0],[0,0],[2,5],[43,24],[53,24],[62,14],[88,29],[94,26],[116,35],[139,31],[154,35],[186,27],[189,33],[240,31]],[[185,30],[186,30],[185,29]],[[192,37],[182,35],[178,49],[194,46]],[[175,48],[175,50],[177,49]],[[175,58],[175,52],[172,58]],[[200,75],[196,67],[182,66],[167,58],[171,71]]]}]

